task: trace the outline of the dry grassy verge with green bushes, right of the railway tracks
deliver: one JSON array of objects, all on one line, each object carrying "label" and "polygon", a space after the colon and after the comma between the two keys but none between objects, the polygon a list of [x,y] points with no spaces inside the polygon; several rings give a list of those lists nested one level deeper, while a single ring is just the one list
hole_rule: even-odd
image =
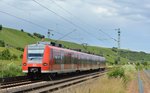
[{"label": "dry grassy verge with green bushes, right of the railway tracks", "polygon": [[133,65],[117,67],[97,80],[60,91],[60,93],[128,93],[128,85],[130,81],[136,79],[135,74],[136,69]]}]

